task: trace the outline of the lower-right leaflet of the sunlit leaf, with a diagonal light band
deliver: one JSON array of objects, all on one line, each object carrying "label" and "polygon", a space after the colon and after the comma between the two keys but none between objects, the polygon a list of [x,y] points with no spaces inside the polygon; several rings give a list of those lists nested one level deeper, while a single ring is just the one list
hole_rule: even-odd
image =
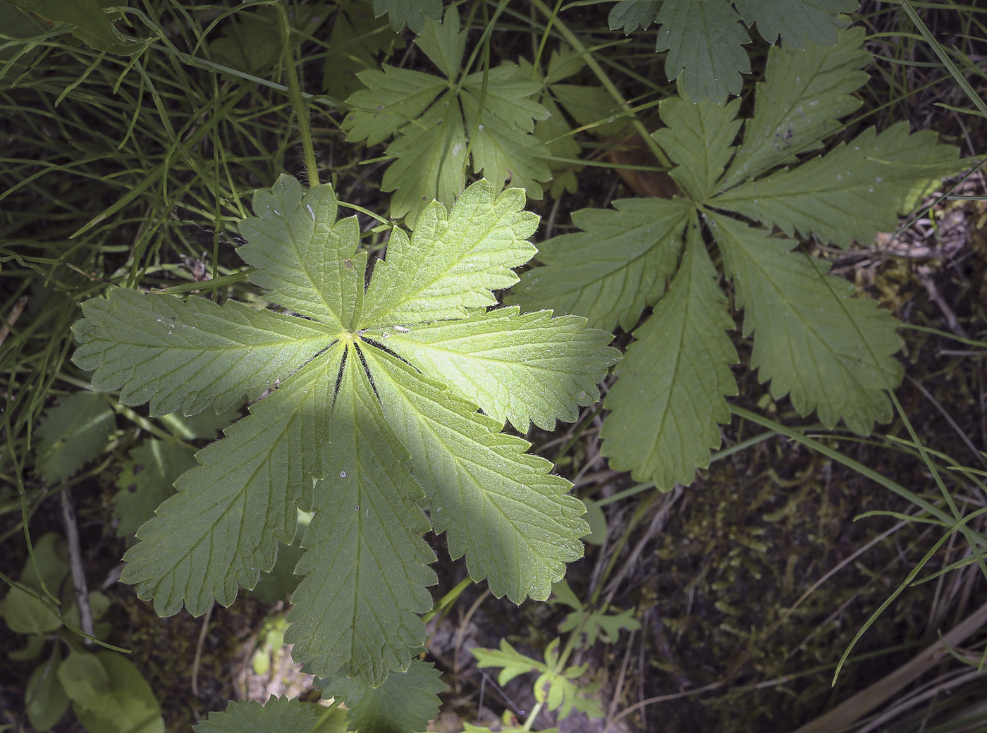
[{"label": "lower-right leaflet of the sunlit leaf, with a diagonal light band", "polygon": [[443,391],[408,364],[377,349],[366,358],[384,416],[412,455],[432,526],[449,553],[466,554],[474,580],[514,603],[545,600],[565,563],[582,554],[588,525],[581,501],[528,443],[498,432],[475,406]]}]

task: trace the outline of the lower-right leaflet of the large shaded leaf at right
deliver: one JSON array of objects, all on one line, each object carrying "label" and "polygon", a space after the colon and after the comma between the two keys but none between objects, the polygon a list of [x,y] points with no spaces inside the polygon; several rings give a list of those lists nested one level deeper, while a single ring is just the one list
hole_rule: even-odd
[{"label": "lower-right leaflet of the large shaded leaf at right", "polygon": [[826,275],[824,260],[790,252],[793,240],[709,217],[744,309],[744,335],[754,332],[751,366],[771,380],[772,396],[789,395],[800,414],[817,410],[828,427],[842,417],[861,435],[874,420],[889,420],[887,390],[902,375],[893,356],[903,345],[894,318],[853,298],[853,285]]}]

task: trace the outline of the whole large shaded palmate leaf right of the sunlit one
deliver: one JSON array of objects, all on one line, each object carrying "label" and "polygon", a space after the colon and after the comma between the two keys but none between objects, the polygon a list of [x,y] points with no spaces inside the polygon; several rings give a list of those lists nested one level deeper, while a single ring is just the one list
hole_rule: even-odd
[{"label": "whole large shaded palmate leaf right of the sunlit one", "polygon": [[583,231],[543,243],[544,266],[526,272],[508,298],[531,309],[551,304],[605,329],[632,330],[653,306],[604,403],[611,412],[602,451],[614,468],[668,488],[690,482],[720,445],[737,355],[706,239],[733,282],[743,334],[754,336],[751,366],[770,380],[774,398],[787,395],[800,414],[815,410],[824,424],[842,419],[860,434],[889,419],[885,391],[901,379],[896,322],[826,274],[825,260],[795,251],[790,237],[868,242],[961,164],[956,148],[931,132],[910,134],[905,123],[805,155],[860,104],[851,93],[867,79],[863,37],[855,29],[834,46],[772,48],[747,119],[737,118],[739,101],[662,102],[665,126],[653,137],[675,163],[681,196],[575,212]]}]

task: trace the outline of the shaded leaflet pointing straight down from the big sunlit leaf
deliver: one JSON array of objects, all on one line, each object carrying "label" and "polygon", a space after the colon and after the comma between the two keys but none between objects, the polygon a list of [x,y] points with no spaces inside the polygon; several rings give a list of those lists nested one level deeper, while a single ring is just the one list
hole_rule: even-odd
[{"label": "shaded leaflet pointing straight down from the big sunlit leaf", "polygon": [[356,346],[345,365],[328,430],[326,478],[316,486],[309,548],[296,571],[285,641],[312,672],[378,686],[404,671],[424,643],[418,614],[435,560],[420,535],[430,527],[415,503],[423,494],[407,453],[388,429]]}]

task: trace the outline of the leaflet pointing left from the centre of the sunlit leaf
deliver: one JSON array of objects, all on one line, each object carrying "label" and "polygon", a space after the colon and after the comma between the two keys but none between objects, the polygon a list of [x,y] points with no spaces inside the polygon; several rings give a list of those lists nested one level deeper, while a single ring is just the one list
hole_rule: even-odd
[{"label": "leaflet pointing left from the centre of the sunlit leaf", "polygon": [[151,415],[257,399],[333,342],[321,324],[226,301],[113,288],[82,304],[72,360],[96,370],[93,387],[120,402],[149,402]]}]

